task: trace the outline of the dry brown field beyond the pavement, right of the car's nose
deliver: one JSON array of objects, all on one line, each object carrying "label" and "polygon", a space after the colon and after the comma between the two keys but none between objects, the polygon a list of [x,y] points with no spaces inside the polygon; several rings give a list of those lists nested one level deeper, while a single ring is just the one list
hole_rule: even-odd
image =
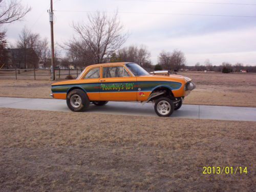
[{"label": "dry brown field beyond the pavement, right of the car's nose", "polygon": [[256,74],[180,73],[196,82],[197,88],[185,104],[256,107]]}]

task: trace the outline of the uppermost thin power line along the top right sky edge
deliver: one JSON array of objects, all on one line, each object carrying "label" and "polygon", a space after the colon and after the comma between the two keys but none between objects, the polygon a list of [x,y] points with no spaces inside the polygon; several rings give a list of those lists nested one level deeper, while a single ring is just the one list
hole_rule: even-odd
[{"label": "uppermost thin power line along the top right sky edge", "polygon": [[187,4],[217,4],[217,5],[247,5],[256,6],[256,4],[244,4],[244,3],[218,3],[218,2],[187,2],[187,1],[165,1],[165,0],[111,0],[121,2],[157,2],[157,3],[187,3]]}]

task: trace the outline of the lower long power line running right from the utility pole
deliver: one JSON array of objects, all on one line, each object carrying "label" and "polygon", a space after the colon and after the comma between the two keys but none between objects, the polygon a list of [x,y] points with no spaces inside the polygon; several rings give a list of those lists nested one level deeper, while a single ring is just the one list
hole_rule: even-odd
[{"label": "lower long power line running right from the utility pole", "polygon": [[[79,10],[56,10],[56,12],[87,12],[94,13],[97,11],[79,11]],[[114,11],[100,11],[102,13],[116,13]],[[245,17],[245,18],[256,18],[252,15],[219,15],[219,14],[193,14],[193,13],[160,13],[160,12],[118,12],[124,14],[151,14],[151,15],[184,15],[184,16],[218,16],[218,17]]]}]

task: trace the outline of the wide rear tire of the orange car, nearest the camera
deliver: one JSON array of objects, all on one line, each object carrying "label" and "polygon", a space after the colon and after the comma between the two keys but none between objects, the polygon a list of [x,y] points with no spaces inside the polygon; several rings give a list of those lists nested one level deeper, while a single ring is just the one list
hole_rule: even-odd
[{"label": "wide rear tire of the orange car, nearest the camera", "polygon": [[90,100],[84,91],[80,89],[74,89],[67,95],[67,105],[73,112],[83,112],[88,109]]}]

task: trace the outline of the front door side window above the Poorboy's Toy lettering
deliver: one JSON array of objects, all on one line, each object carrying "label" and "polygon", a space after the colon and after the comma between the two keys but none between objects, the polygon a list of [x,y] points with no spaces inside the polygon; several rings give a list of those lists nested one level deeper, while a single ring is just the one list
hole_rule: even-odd
[{"label": "front door side window above the Poorboy's Toy lettering", "polygon": [[103,67],[103,78],[129,77],[129,73],[123,67]]}]

